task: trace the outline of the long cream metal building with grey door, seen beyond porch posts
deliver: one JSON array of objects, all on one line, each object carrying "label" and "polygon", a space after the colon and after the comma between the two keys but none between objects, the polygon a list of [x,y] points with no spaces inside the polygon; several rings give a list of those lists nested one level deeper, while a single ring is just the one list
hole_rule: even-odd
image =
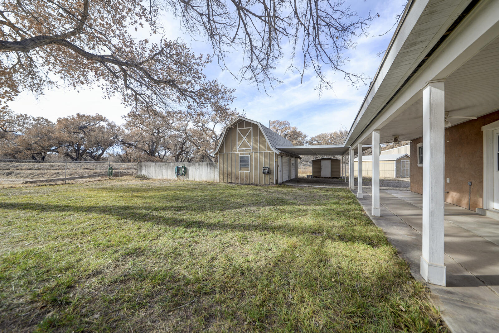
[{"label": "long cream metal building with grey door, seen beyond porch posts", "polygon": [[[409,146],[409,145],[407,145]],[[358,176],[358,158],[354,160],[354,176]],[[407,178],[410,172],[411,158],[409,154],[390,154],[379,156],[379,176],[381,178]],[[362,156],[362,176],[372,177],[373,157]]]}]

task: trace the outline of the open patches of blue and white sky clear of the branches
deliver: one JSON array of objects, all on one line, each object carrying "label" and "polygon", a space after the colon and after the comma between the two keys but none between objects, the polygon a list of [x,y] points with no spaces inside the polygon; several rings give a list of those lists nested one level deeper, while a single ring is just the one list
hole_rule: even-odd
[{"label": "open patches of blue and white sky clear of the branches", "polygon": [[[403,11],[406,0],[346,0],[346,2],[361,15],[365,16],[368,11],[371,14],[380,14],[368,30],[371,35],[378,35],[387,31],[396,22],[395,16]],[[210,53],[208,44],[202,38],[193,40],[182,33],[179,22],[174,18],[165,17],[164,22],[167,22],[167,36],[181,37],[196,53]],[[381,37],[359,37],[356,40],[357,47],[346,53],[351,60],[345,69],[374,77],[382,59],[377,53],[386,49],[393,31],[394,28]],[[241,54],[232,53],[228,61],[231,70],[237,73],[243,58]],[[334,82],[333,89],[319,96],[314,90],[318,82],[314,73],[309,71],[300,85],[300,77],[296,73],[286,71],[286,61],[282,59],[274,71],[274,75],[282,81],[282,84],[274,89],[267,89],[266,93],[258,91],[254,84],[235,80],[230,73],[222,71],[216,62],[208,66],[205,72],[209,79],[216,78],[226,86],[236,89],[234,93],[236,101],[233,107],[240,112],[244,110],[250,119],[263,124],[268,124],[269,119],[287,120],[309,136],[333,132],[341,126],[349,129],[368,86],[355,89],[348,86],[341,73],[330,72],[328,78]],[[108,98],[99,89],[81,88],[74,91],[64,87],[45,91],[44,95],[38,96],[38,99],[29,92],[23,92],[10,103],[10,108],[14,112],[42,116],[52,121],[79,112],[100,113],[110,120],[122,123],[121,116],[128,112],[128,109],[120,104],[119,97]]]}]

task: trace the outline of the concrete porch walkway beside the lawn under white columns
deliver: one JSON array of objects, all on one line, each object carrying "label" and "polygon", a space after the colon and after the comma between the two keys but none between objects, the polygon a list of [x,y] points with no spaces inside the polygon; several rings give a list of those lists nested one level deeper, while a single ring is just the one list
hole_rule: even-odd
[{"label": "concrete porch walkway beside the lawn under white columns", "polygon": [[[356,193],[356,191],[354,191]],[[381,190],[381,217],[371,215],[371,195],[359,202],[406,259],[416,280],[422,241],[420,194]],[[499,221],[446,203],[447,287],[428,284],[434,304],[454,333],[499,332]]]}]

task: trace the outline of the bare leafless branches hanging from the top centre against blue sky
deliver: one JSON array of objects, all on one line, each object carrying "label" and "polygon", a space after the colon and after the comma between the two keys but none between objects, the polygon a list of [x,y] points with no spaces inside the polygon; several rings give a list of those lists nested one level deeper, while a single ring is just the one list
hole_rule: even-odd
[{"label": "bare leafless branches hanging from the top centre against blue sky", "polygon": [[[327,71],[340,71],[352,85],[364,83],[362,74],[343,68],[345,50],[366,32],[374,16],[361,18],[343,0],[161,0],[193,35],[204,35],[221,66],[227,51],[240,49],[245,57],[239,76],[258,85],[279,82],[272,70],[290,55],[288,68],[302,77],[311,67],[319,89],[332,86]],[[379,14],[375,16],[379,17]],[[289,52],[290,49],[290,52]],[[284,51],[286,50],[286,51]]]}]

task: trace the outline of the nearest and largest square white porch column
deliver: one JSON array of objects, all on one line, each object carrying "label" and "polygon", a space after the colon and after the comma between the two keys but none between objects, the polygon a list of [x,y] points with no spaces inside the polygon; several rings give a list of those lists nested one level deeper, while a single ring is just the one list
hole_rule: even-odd
[{"label": "nearest and largest square white porch column", "polygon": [[423,88],[423,255],[421,275],[445,286],[444,266],[444,81]]}]

